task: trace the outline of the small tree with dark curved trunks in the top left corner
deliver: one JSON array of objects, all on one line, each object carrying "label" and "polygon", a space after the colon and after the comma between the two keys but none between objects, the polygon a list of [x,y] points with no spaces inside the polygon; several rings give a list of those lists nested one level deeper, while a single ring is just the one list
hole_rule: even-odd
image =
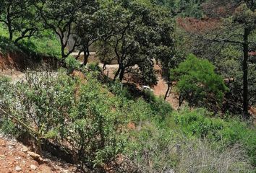
[{"label": "small tree with dark curved trunks in the top left corner", "polygon": [[0,22],[7,27],[9,40],[14,40],[14,43],[35,35],[40,23],[29,0],[1,0]]}]

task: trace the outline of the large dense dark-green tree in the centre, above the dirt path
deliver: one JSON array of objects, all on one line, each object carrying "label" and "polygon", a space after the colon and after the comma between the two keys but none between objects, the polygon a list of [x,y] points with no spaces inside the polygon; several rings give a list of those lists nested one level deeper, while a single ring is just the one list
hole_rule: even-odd
[{"label": "large dense dark-green tree in the centre, above the dirt path", "polygon": [[109,19],[106,28],[111,31],[106,45],[111,45],[119,63],[115,79],[122,80],[137,66],[142,83],[155,84],[153,59],[160,58],[160,49],[166,46],[171,50],[173,44],[168,13],[150,1],[108,1],[104,6],[108,9],[105,18]]}]

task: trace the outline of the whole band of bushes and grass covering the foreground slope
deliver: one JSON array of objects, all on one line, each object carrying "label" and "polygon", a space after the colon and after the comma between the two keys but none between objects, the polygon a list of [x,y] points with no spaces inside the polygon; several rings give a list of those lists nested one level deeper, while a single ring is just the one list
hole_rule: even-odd
[{"label": "whole band of bushes and grass covering the foreground slope", "polygon": [[2,77],[1,129],[30,136],[38,152],[45,141],[65,148],[84,169],[252,171],[256,133],[246,123],[207,110],[175,112],[153,95],[132,99],[119,83],[101,84],[97,75],[27,72],[15,85]]}]

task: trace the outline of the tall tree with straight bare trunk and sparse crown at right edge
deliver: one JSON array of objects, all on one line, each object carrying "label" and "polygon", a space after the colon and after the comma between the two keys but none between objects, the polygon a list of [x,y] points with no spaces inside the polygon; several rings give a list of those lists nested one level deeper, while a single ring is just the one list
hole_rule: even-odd
[{"label": "tall tree with straight bare trunk and sparse crown at right edge", "polygon": [[248,119],[248,53],[249,48],[254,44],[250,37],[255,30],[255,1],[208,1],[204,4],[204,9],[205,14],[208,14],[210,19],[197,20],[193,25],[190,25],[192,22],[187,22],[187,25],[185,24],[183,27],[196,36],[197,41],[203,40],[199,43],[208,48],[213,48],[213,46],[217,48],[212,57],[208,58],[218,56],[223,48],[229,45],[242,50],[242,110],[244,118]]}]

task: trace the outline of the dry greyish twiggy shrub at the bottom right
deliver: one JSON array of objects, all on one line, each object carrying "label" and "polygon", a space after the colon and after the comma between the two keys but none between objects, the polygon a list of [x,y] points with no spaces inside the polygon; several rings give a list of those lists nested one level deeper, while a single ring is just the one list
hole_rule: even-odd
[{"label": "dry greyish twiggy shrub at the bottom right", "polygon": [[226,148],[208,141],[185,140],[179,149],[176,172],[252,172],[247,152],[242,146]]}]

